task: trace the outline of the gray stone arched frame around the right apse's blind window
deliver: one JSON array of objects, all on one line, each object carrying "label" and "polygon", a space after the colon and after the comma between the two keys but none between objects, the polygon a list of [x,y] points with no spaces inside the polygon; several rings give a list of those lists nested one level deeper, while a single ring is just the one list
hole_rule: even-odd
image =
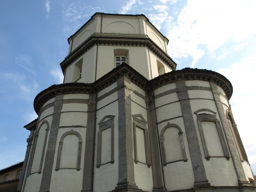
[{"label": "gray stone arched frame around the right apse's blind window", "polygon": [[[180,146],[182,149],[182,159],[177,159],[175,161],[172,162],[167,162],[166,159],[166,150],[165,150],[165,146],[164,146],[164,132],[166,131],[166,129],[168,129],[169,127],[175,127],[176,129],[179,130],[178,134],[179,134],[179,138],[180,138]],[[184,161],[187,162],[188,159],[186,157],[186,150],[185,150],[185,144],[184,144],[184,138],[183,138],[183,132],[182,129],[180,128],[179,125],[174,124],[174,123],[167,123],[167,125],[164,126],[164,128],[162,129],[161,133],[160,133],[160,146],[161,146],[161,151],[162,151],[162,161],[163,161],[163,165],[166,166],[169,163],[175,163],[177,161]]]}]

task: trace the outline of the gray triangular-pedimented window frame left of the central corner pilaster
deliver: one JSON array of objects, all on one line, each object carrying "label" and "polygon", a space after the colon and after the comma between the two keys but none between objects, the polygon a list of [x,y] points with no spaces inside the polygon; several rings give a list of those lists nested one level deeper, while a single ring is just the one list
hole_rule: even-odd
[{"label": "gray triangular-pedimented window frame left of the central corner pilaster", "polygon": [[[99,131],[98,131],[98,142],[97,142],[97,164],[96,164],[97,168],[99,168],[101,165],[105,165],[107,163],[111,163],[111,164],[114,163],[114,118],[115,118],[115,115],[106,115],[98,123]],[[108,129],[108,128],[111,129],[110,161],[101,163],[102,131],[105,129]]]}]

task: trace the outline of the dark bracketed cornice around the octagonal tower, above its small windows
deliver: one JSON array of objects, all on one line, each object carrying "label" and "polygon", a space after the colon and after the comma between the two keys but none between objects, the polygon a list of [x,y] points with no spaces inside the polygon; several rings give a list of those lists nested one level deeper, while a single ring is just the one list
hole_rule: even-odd
[{"label": "dark bracketed cornice around the octagonal tower, above its small windows", "polygon": [[[112,34],[113,35],[113,34]],[[90,38],[85,40],[79,47],[72,51],[61,63],[61,69],[64,74],[65,68],[74,63],[85,52],[91,49],[94,45],[106,46],[126,46],[126,47],[148,47],[159,59],[166,65],[175,70],[177,64],[172,60],[166,52],[164,52],[153,40],[146,35],[127,35],[127,34],[111,34],[94,33]]]}]

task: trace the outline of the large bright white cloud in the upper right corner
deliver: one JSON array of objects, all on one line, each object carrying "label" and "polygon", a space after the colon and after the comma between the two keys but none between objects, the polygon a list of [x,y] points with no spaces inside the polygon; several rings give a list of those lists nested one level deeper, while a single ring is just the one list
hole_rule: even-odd
[{"label": "large bright white cloud in the upper right corner", "polygon": [[193,66],[205,51],[213,53],[229,41],[249,39],[256,33],[255,9],[256,1],[250,0],[188,0],[177,20],[169,24],[169,54],[173,58],[191,56]]}]

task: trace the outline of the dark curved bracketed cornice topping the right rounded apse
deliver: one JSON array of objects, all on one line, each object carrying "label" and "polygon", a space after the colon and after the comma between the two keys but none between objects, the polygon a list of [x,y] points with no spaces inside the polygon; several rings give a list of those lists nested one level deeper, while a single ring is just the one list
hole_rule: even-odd
[{"label": "dark curved bracketed cornice topping the right rounded apse", "polygon": [[174,83],[177,80],[203,80],[208,82],[216,83],[219,87],[221,87],[227,98],[230,99],[233,93],[233,87],[230,81],[223,75],[207,70],[207,69],[192,69],[192,68],[184,68],[177,71],[171,71],[169,73],[160,75],[152,80],[150,83],[153,89],[157,89],[163,85]]}]

